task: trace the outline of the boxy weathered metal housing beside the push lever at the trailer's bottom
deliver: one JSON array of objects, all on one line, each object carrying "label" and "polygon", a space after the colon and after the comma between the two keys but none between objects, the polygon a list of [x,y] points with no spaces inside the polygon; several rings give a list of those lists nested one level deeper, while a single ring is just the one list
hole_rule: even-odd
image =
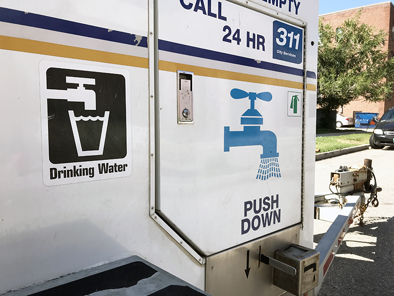
[{"label": "boxy weathered metal housing beside the push lever at the trailer's bottom", "polygon": [[294,267],[295,275],[274,268],[274,285],[294,294],[305,295],[319,284],[320,253],[292,244],[286,251],[276,250],[275,259]]}]

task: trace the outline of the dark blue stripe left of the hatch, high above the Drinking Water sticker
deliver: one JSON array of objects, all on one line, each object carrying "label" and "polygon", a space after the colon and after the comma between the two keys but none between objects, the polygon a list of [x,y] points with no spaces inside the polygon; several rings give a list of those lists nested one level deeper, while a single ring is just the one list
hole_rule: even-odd
[{"label": "dark blue stripe left of the hatch, high above the Drinking Water sticker", "polygon": [[4,7],[0,7],[0,21],[123,44],[148,47],[148,39],[146,36],[143,36],[141,42],[138,43],[138,41],[135,40],[135,34],[115,30],[108,32],[108,28],[101,28],[35,13],[25,13],[23,11]]}]

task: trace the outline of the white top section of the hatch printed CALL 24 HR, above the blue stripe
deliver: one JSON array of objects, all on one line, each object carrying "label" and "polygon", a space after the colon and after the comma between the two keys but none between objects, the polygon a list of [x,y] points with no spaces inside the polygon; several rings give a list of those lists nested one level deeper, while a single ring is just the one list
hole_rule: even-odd
[{"label": "white top section of the hatch printed CALL 24 HR, above the blue stripe", "polygon": [[[159,5],[159,38],[162,40],[236,55],[233,58],[240,55],[255,59],[256,62],[274,62],[303,68],[301,55],[298,56],[300,62],[297,63],[273,57],[276,55],[276,50],[272,50],[273,41],[279,37],[273,35],[273,22],[283,22],[280,18],[225,0],[181,0],[171,4],[160,1]],[[300,42],[303,36],[297,37],[297,33],[295,31],[291,38],[286,35],[287,42],[292,42],[293,49],[302,48]],[[280,42],[284,42],[282,37]]]}]

